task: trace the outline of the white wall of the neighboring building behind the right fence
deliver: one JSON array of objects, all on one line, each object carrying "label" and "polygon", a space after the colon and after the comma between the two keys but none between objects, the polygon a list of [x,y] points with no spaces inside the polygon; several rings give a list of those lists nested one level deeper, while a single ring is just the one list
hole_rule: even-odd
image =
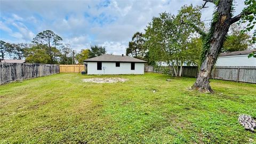
[{"label": "white wall of the neighboring building behind the right fence", "polygon": [[248,55],[231,55],[219,57],[215,66],[256,66],[255,58],[248,58]]}]

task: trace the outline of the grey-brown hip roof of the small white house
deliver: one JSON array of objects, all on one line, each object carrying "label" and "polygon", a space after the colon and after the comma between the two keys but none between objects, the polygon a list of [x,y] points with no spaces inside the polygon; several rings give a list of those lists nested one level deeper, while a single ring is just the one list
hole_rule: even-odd
[{"label": "grey-brown hip roof of the small white house", "polygon": [[147,62],[140,59],[132,58],[126,55],[112,55],[104,54],[99,57],[94,57],[91,59],[84,60],[84,62],[93,62],[93,61],[108,61],[108,62]]}]

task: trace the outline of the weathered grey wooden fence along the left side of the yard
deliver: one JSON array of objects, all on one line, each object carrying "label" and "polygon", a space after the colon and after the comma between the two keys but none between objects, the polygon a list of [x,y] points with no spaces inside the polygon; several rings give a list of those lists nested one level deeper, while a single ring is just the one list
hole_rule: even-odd
[{"label": "weathered grey wooden fence along the left side of the yard", "polygon": [[0,62],[0,84],[60,73],[59,65]]}]

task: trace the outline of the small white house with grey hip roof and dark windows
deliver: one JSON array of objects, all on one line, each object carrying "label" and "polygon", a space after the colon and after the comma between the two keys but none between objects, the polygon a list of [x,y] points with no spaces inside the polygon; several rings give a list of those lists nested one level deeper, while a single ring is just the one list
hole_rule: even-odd
[{"label": "small white house with grey hip roof and dark windows", "polygon": [[144,74],[146,61],[126,55],[104,54],[84,60],[88,75]]}]

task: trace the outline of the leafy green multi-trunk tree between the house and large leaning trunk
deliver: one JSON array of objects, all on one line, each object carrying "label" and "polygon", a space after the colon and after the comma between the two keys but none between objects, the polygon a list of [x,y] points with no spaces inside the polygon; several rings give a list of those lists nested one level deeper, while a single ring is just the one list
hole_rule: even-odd
[{"label": "leafy green multi-trunk tree between the house and large leaning trunk", "polygon": [[164,12],[153,18],[145,34],[149,61],[166,62],[174,76],[181,76],[183,63],[193,60],[188,54],[193,54],[194,51],[189,49],[188,44],[195,30],[187,25],[181,25],[180,21],[203,26],[200,18],[199,7],[192,5],[181,7],[177,16]]}]

